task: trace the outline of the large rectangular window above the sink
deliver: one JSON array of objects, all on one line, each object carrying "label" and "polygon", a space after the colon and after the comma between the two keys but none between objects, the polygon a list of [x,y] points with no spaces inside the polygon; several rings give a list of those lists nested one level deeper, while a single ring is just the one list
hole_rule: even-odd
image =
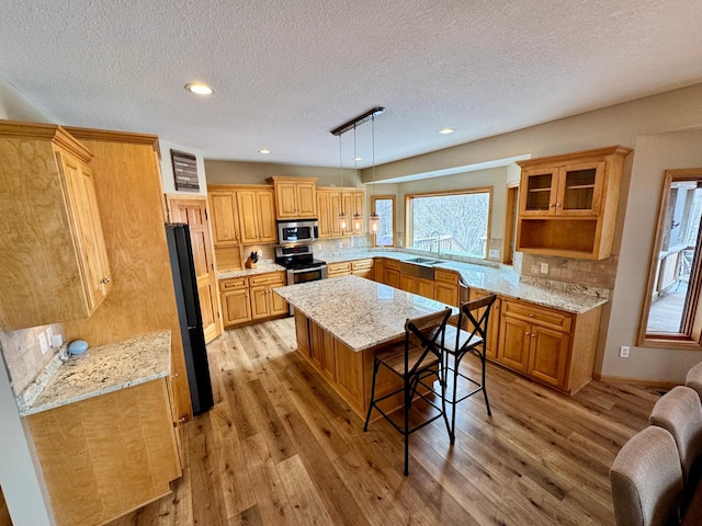
[{"label": "large rectangular window above the sink", "polygon": [[406,195],[407,245],[486,258],[492,188]]}]

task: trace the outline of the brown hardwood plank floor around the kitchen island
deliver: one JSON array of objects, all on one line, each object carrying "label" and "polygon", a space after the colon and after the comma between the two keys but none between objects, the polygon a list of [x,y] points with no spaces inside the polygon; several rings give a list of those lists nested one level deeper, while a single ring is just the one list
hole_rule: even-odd
[{"label": "brown hardwood plank floor around the kitchen island", "polygon": [[[443,422],[410,438],[355,416],[297,356],[293,319],[208,345],[215,407],[184,428],[173,493],[126,525],[611,525],[609,467],[648,424],[650,389],[592,381],[573,398],[488,366],[463,402],[456,444]],[[477,373],[477,361],[464,361]]]}]

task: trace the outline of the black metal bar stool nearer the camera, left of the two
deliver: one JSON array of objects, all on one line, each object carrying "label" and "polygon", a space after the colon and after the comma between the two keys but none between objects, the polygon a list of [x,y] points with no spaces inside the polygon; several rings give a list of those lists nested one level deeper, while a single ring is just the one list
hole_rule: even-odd
[{"label": "black metal bar stool nearer the camera, left of the two", "polygon": [[[446,419],[445,403],[444,403],[444,385],[445,381],[441,380],[440,367],[443,363],[441,354],[441,347],[444,339],[444,331],[446,328],[446,321],[451,316],[451,309],[446,308],[440,312],[422,316],[419,318],[411,318],[405,322],[405,341],[398,344],[392,345],[387,348],[383,348],[375,354],[373,362],[373,385],[371,388],[371,404],[369,407],[369,413],[365,418],[365,424],[363,431],[369,430],[369,422],[371,421],[371,413],[375,408],[399,433],[405,436],[405,476],[409,474],[409,435],[415,431],[422,428],[424,425],[430,424],[434,420],[443,416],[449,428],[449,421]],[[403,379],[403,387],[394,390],[387,395],[382,396],[377,400],[375,399],[375,381],[377,378],[377,371],[381,365],[385,366],[388,370],[399,376]],[[438,393],[432,384],[427,384],[427,379],[435,377],[440,379],[441,392]],[[418,387],[422,386],[430,392],[439,395],[441,398],[441,407],[439,407],[434,400],[430,399],[429,392],[423,393],[417,391]],[[386,413],[378,402],[394,397],[397,393],[404,395],[404,425],[398,425],[388,413]],[[424,419],[414,427],[409,426],[409,410],[412,404],[415,396],[420,397],[438,413],[431,418]]]}]

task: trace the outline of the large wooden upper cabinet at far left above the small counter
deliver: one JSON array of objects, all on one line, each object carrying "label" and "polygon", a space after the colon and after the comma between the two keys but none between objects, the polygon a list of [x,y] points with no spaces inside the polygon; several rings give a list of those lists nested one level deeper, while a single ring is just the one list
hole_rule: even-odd
[{"label": "large wooden upper cabinet at far left above the small counter", "polygon": [[112,287],[92,153],[56,125],[0,122],[0,324],[90,315]]}]

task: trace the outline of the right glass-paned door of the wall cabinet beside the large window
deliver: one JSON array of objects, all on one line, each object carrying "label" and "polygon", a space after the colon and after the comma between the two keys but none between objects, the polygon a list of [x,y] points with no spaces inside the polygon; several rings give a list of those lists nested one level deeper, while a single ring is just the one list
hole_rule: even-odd
[{"label": "right glass-paned door of the wall cabinet beside the large window", "polygon": [[561,168],[556,215],[597,217],[600,213],[603,181],[604,161]]}]

